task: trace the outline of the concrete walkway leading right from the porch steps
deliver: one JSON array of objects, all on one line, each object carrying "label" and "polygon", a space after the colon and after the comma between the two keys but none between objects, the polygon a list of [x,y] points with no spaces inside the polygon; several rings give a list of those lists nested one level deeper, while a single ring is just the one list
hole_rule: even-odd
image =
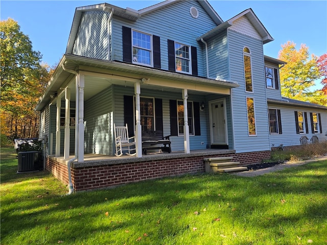
[{"label": "concrete walkway leading right from the porch steps", "polygon": [[322,161],[322,160],[327,160],[327,156],[317,157],[317,158],[310,159],[310,160],[281,163],[281,164],[277,164],[272,167],[262,168],[262,169],[258,169],[258,170],[243,171],[243,172],[235,173],[233,175],[244,176],[244,177],[255,177],[255,176],[268,174],[268,173],[271,173],[274,171],[283,170],[284,168],[295,167],[295,166],[303,165],[303,164],[306,164],[309,162],[316,162],[316,161]]}]

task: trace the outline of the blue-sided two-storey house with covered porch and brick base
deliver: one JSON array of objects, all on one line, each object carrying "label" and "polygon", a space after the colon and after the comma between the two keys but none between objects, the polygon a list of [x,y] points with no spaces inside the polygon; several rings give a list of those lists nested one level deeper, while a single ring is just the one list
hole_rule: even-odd
[{"label": "blue-sided two-storey house with covered porch and brick base", "polygon": [[[204,171],[204,157],[259,162],[301,134],[326,140],[326,107],[281,96],[271,41],[251,9],[223,21],[207,1],[76,8],[36,107],[46,168],[84,190]],[[126,124],[136,154],[116,157],[114,125]],[[145,156],[147,131],[170,135],[172,153]]]}]

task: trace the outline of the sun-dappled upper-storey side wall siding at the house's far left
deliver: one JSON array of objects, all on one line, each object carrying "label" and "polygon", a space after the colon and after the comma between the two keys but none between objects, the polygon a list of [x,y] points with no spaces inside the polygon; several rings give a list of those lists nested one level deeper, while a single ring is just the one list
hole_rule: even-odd
[{"label": "sun-dappled upper-storey side wall siding at the house's far left", "polygon": [[84,12],[75,39],[73,54],[108,59],[108,17],[104,11]]}]

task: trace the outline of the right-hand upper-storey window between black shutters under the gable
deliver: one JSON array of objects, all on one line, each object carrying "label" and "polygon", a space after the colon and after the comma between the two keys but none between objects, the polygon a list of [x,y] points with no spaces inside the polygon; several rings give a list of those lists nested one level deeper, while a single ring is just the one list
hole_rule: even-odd
[{"label": "right-hand upper-storey window between black shutters under the gable", "polygon": [[176,71],[191,74],[191,47],[175,42]]}]

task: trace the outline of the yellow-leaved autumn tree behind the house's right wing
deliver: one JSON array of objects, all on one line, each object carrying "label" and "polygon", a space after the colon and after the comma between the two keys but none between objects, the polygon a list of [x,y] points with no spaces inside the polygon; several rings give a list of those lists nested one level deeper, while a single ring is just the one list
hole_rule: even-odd
[{"label": "yellow-leaved autumn tree behind the house's right wing", "polygon": [[327,99],[321,90],[314,92],[310,88],[315,85],[315,80],[321,77],[321,71],[315,55],[309,59],[309,48],[301,44],[299,51],[294,42],[288,41],[282,45],[278,59],[287,64],[280,70],[282,96],[290,99],[327,105]]}]

